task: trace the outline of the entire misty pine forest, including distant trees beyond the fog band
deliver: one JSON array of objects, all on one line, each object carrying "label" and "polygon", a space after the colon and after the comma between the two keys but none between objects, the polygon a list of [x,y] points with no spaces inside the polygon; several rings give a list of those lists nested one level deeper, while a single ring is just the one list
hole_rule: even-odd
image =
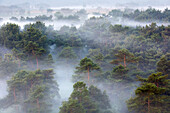
[{"label": "entire misty pine forest, including distant trees beyond the fog band", "polygon": [[[151,24],[113,25],[109,16]],[[60,12],[55,18],[80,21]],[[42,22],[52,21],[52,16],[22,19],[36,22],[23,29],[15,23],[0,28],[0,79],[7,79],[8,89],[0,98],[0,113],[170,111],[170,25],[152,22],[170,22],[169,9],[112,10],[85,20],[79,28],[59,30]],[[65,82],[68,79],[72,84]],[[64,89],[59,81],[72,87],[68,98],[59,93]]]}]

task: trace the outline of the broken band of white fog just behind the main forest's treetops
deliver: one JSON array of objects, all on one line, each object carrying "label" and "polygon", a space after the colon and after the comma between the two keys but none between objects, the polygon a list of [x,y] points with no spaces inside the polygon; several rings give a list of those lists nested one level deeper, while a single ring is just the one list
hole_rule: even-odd
[{"label": "broken band of white fog just behind the main forest's treetops", "polygon": [[[100,16],[101,15],[89,14],[87,19],[89,19],[91,17],[98,18]],[[137,22],[137,21],[134,21],[134,20],[128,20],[128,19],[122,19],[122,18],[117,18],[116,20],[109,18],[108,21],[110,21],[112,25],[120,24],[120,25],[123,25],[123,26],[130,26],[130,27],[146,26],[146,25],[150,25],[152,23],[152,22]],[[83,25],[84,22],[85,21],[80,21],[80,22],[75,22],[75,21],[54,21],[54,22],[44,21],[44,23],[47,27],[52,26],[54,28],[54,30],[60,30],[60,28],[63,27],[63,26],[69,26],[69,27],[75,26],[76,28],[79,28]],[[11,21],[11,20],[7,19],[7,20],[0,21],[0,26],[5,25],[7,23],[15,23],[15,24],[19,25],[21,27],[21,29],[24,29],[25,25],[30,24],[30,23],[35,23],[35,22],[33,22],[33,21],[32,22],[29,22],[29,21],[19,22],[19,21]],[[161,25],[168,26],[169,24],[170,23],[166,23],[166,22],[157,22],[158,26],[161,26]]]}]

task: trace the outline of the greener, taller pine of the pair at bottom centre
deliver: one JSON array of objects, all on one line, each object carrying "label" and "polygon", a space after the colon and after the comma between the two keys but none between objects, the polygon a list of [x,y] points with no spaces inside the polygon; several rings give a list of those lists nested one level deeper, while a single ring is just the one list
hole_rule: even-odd
[{"label": "greener, taller pine of the pair at bottom centre", "polygon": [[[68,102],[64,102],[59,113],[98,113],[96,105],[91,101],[86,84],[77,82]],[[79,112],[79,113],[81,113]]]}]

